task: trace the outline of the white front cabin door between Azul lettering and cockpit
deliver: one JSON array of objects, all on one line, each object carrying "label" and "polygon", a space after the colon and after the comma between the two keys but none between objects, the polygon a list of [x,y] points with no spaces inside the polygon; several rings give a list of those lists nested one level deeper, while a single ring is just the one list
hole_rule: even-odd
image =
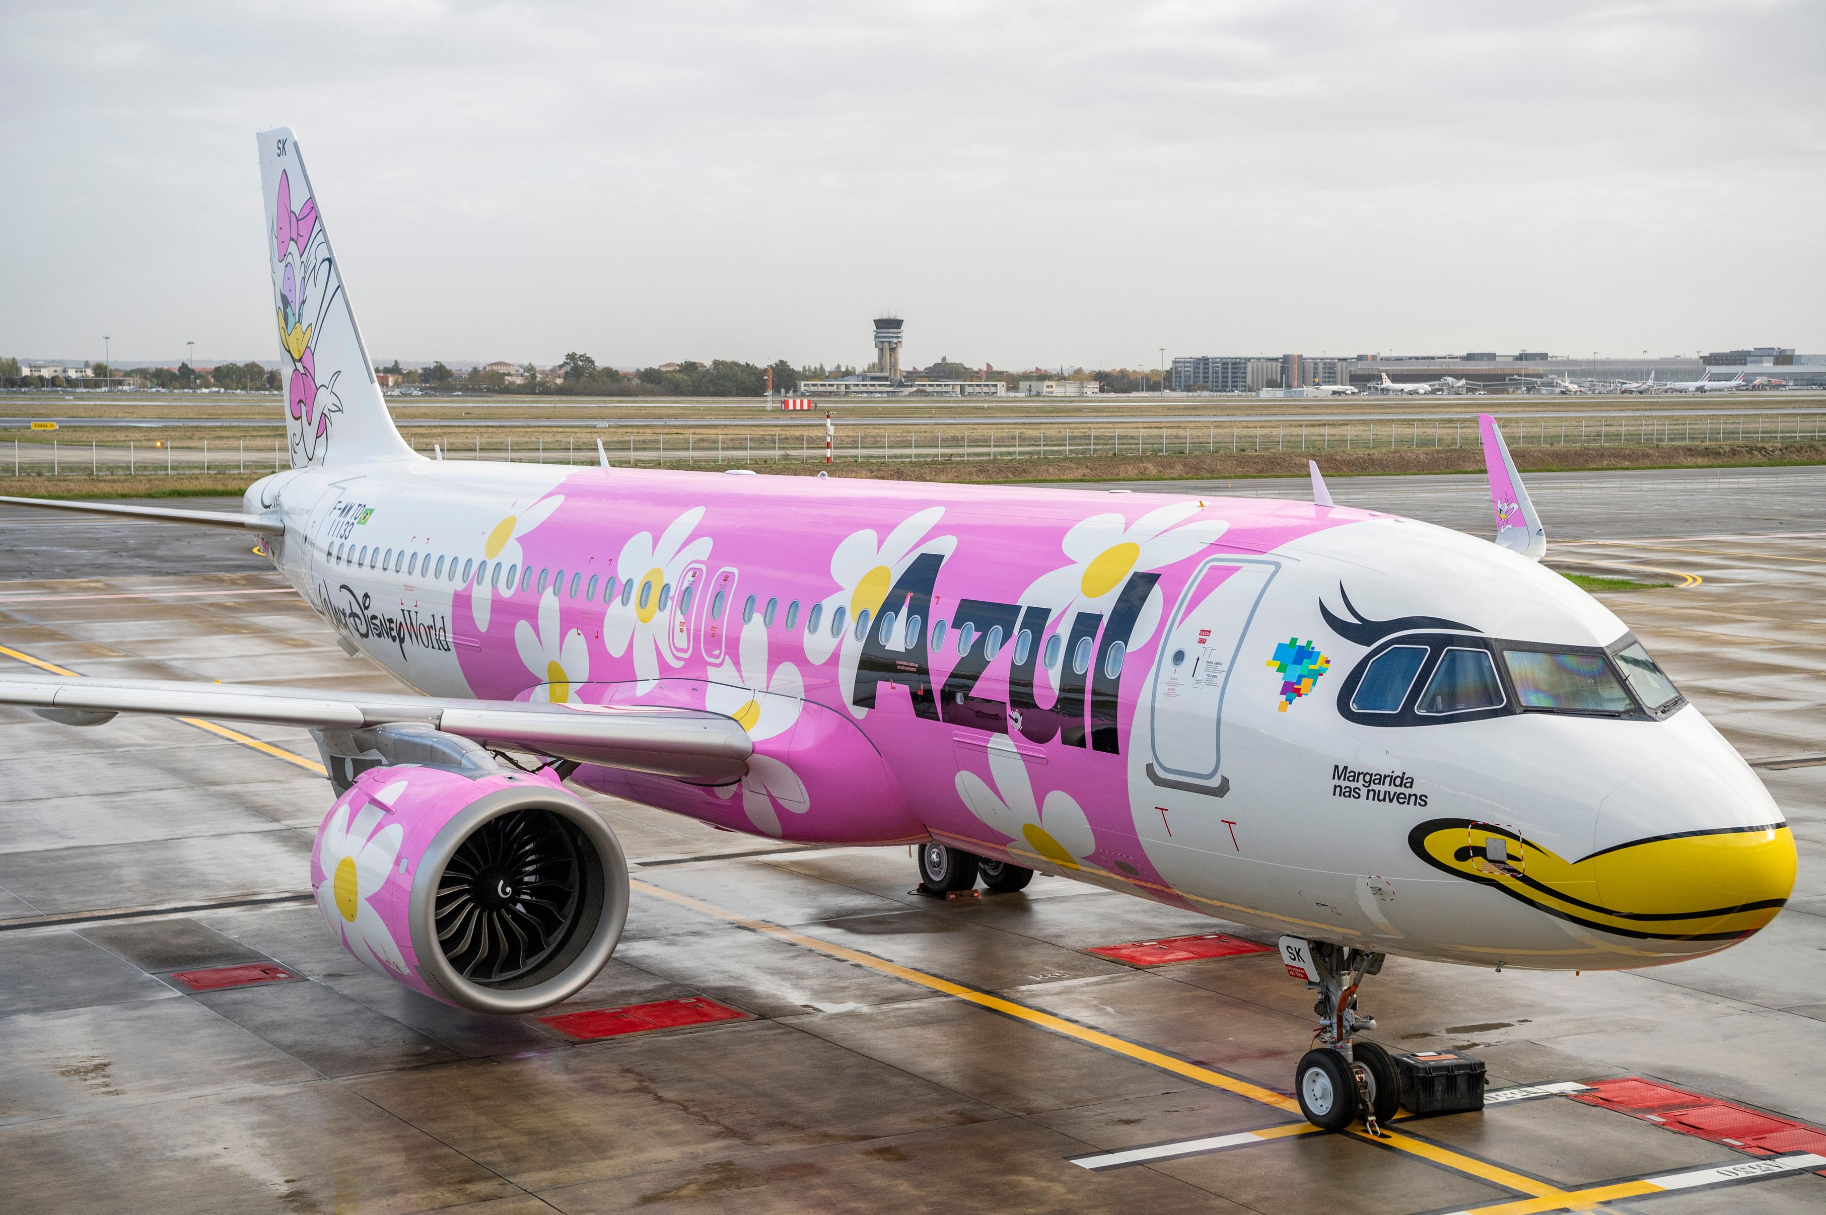
[{"label": "white front cabin door between Azul lettering and cockpit", "polygon": [[1218,557],[1187,585],[1154,660],[1149,705],[1154,760],[1149,778],[1165,787],[1223,797],[1223,692],[1276,561]]}]

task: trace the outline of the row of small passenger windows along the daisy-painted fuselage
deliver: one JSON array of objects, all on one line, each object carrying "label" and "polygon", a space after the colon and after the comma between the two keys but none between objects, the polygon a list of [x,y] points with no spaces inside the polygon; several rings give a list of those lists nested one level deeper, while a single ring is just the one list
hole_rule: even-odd
[{"label": "row of small passenger windows along the daisy-painted fuselage", "polygon": [[[477,561],[475,557],[458,559],[442,554],[415,552],[404,548],[400,550],[382,548],[378,544],[356,546],[347,541],[336,544],[336,548],[329,554],[329,559],[334,561],[336,565],[347,565],[358,570],[369,568],[369,570],[380,570],[382,574],[400,574],[405,577],[424,577],[429,581],[451,581],[466,585],[473,577],[477,583],[486,581],[489,586],[506,586],[509,590],[515,588],[515,583],[519,583],[519,590],[535,590],[539,594],[544,594],[546,586],[551,586],[553,594],[557,596],[566,594],[564,570],[557,570],[557,574],[553,574],[550,568],[540,568],[535,574],[533,566],[522,568],[519,565],[508,565],[502,561],[497,561],[493,563],[493,566],[489,566],[488,561]],[[672,607],[672,583],[659,583],[656,586],[652,579],[635,583],[632,577],[617,581],[615,576],[601,577],[597,574],[592,574],[588,581],[584,581],[584,576],[581,572],[573,570],[570,574],[568,597],[593,603],[597,601],[597,590],[603,592],[601,603],[612,603],[619,592],[623,607],[637,605],[641,610],[646,610],[648,605],[654,605],[654,596],[657,594],[659,601],[654,605],[656,610],[665,612]],[[679,592],[677,610],[681,616],[690,612],[690,603],[696,590],[698,590],[696,585],[688,585],[685,586],[683,592]],[[718,590],[710,597],[710,619],[723,619],[727,597],[729,596],[723,590]],[[765,605],[760,603],[760,596],[749,596],[747,599],[743,599],[741,623],[747,625],[749,621],[754,619],[756,614],[760,614],[761,625],[772,629],[774,619],[780,618],[780,599],[769,597]],[[805,612],[805,632],[814,634],[820,629],[829,627],[831,636],[840,638],[844,636],[844,629],[847,625],[855,630],[855,638],[862,641],[869,634],[871,616],[873,614],[869,612],[869,608],[862,608],[860,612],[856,612],[856,618],[851,623],[849,608],[838,605],[836,608],[831,610],[829,625],[825,625],[824,605],[813,603],[811,608]],[[798,629],[798,621],[800,621],[800,601],[792,599],[785,608],[785,618],[782,619],[782,625],[785,627],[787,632],[792,632],[794,629]],[[897,619],[895,612],[882,612],[880,618],[875,619],[873,623],[875,629],[878,630],[882,645],[893,645],[897,641],[897,627],[904,630],[898,636],[902,649],[911,649],[915,645],[920,645],[920,630],[924,629],[924,621],[917,614],[908,616],[904,621],[900,621]],[[931,638],[928,639],[928,645],[931,647],[933,654],[944,649],[948,634],[955,634],[957,638],[955,645],[959,656],[968,654],[970,649],[977,643],[979,636],[975,625],[966,623],[962,629],[951,630],[946,621],[942,619],[933,621]],[[995,625],[986,634],[981,636],[982,636],[984,661],[995,661],[995,658],[1002,652],[1002,645],[1006,641],[1002,627]],[[1021,632],[1017,632],[1013,638],[1013,647],[1015,647],[1013,649],[1015,665],[1017,667],[1024,665],[1034,649],[1034,630],[1023,629]],[[1065,638],[1061,638],[1059,634],[1046,638],[1046,645],[1041,647],[1041,663],[1048,671],[1055,669],[1059,665],[1063,650],[1065,650]],[[1079,638],[1077,645],[1072,647],[1072,671],[1076,674],[1085,674],[1086,671],[1090,671],[1092,650],[1094,643],[1090,638]],[[1112,643],[1103,658],[1103,674],[1107,678],[1114,680],[1123,672],[1123,656],[1125,656],[1123,643],[1121,641]]]}]

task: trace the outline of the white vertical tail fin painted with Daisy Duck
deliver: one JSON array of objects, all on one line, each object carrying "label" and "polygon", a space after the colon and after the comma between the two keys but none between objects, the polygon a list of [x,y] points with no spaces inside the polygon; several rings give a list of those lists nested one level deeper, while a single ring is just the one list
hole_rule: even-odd
[{"label": "white vertical tail fin painted with Daisy Duck", "polygon": [[256,139],[292,468],[411,460],[354,323],[298,141],[289,126]]}]

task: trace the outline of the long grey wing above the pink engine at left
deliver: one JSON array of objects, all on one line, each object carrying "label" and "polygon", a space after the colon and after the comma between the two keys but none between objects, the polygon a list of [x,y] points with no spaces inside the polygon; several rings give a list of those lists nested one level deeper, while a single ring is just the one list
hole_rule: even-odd
[{"label": "long grey wing above the pink engine at left", "polygon": [[734,718],[674,707],[535,705],[93,678],[4,678],[0,703],[22,705],[68,725],[100,725],[117,713],[343,731],[416,722],[482,745],[688,780],[736,780],[747,773],[754,753]]}]

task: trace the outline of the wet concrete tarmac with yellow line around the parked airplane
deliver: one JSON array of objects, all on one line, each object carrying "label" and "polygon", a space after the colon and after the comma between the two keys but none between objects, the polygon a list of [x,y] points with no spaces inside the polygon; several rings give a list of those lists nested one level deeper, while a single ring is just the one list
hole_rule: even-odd
[{"label": "wet concrete tarmac with yellow line around the parked airplane", "polygon": [[[1684,583],[1605,601],[1788,813],[1800,882],[1782,915],[1715,957],[1640,972],[1390,959],[1362,994],[1373,1038],[1466,1049],[1492,1087],[1640,1076],[1747,1107],[1733,1127],[1758,1113],[1826,1125],[1822,477],[1528,479],[1556,559]],[[1481,491],[1333,484],[1340,502],[1479,535]],[[37,660],[391,687],[247,537],[11,508],[0,535],[7,674]],[[285,758],[314,758],[305,733],[248,727],[259,749],[168,718],[77,729],[20,711],[0,729],[0,1211],[1826,1206],[1826,1180],[1799,1169],[1598,1189],[1757,1160],[1567,1096],[1404,1118],[1380,1144],[1284,1135],[1300,1124],[1276,1093],[1313,1018],[1271,954],[1139,968],[1085,952],[1264,934],[1046,877],[933,903],[908,893],[906,850],[780,846],[612,798],[592,800],[641,890],[615,959],[557,1012],[707,996],[743,1018],[581,1043],[537,1018],[456,1012],[343,954],[310,903],[331,791]],[[294,977],[203,994],[172,977],[247,963]],[[1240,1131],[1265,1136],[1072,1164]]]}]

